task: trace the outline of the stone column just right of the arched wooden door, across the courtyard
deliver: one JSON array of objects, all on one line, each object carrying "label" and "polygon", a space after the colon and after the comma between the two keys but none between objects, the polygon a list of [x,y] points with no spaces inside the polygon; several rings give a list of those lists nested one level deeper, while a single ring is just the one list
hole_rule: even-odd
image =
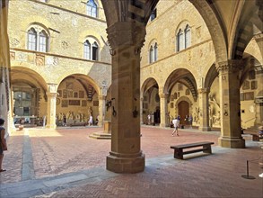
[{"label": "stone column just right of the arched wooden door, across the courtyard", "polygon": [[200,116],[199,116],[199,130],[210,131],[211,127],[209,126],[209,101],[208,94],[210,90],[207,88],[198,89],[199,97],[199,107],[200,107]]}]

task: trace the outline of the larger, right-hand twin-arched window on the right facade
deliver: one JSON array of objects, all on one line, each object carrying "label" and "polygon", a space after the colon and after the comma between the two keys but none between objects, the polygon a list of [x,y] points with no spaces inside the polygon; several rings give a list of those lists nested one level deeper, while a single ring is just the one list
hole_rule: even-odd
[{"label": "larger, right-hand twin-arched window on the right facade", "polygon": [[191,46],[191,29],[187,24],[184,29],[180,28],[176,35],[177,51],[187,49]]}]

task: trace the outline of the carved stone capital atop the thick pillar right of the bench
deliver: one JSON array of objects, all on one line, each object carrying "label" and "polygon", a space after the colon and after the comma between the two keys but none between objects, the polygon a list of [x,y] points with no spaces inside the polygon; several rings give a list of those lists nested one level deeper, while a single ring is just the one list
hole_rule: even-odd
[{"label": "carved stone capital atop the thick pillar right of the bench", "polygon": [[234,73],[241,70],[243,61],[239,59],[231,59],[216,63],[216,69],[219,73]]}]

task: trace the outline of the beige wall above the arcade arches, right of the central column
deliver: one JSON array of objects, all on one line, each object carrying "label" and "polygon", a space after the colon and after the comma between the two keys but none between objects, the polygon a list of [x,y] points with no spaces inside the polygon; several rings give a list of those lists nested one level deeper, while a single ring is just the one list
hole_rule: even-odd
[{"label": "beige wall above the arcade arches, right of the central column", "polygon": [[[215,62],[213,42],[206,24],[195,7],[187,1],[180,2],[177,6],[181,9],[177,10],[177,7],[172,6],[161,16],[157,14],[157,18],[149,22],[146,27],[145,47],[142,49],[141,84],[145,82],[145,79],[153,76],[160,86],[164,86],[172,71],[176,68],[187,68],[195,76],[197,88],[201,88],[208,69]],[[191,46],[176,52],[175,31],[185,20],[191,27]],[[165,28],[167,30],[163,31]],[[148,46],[153,39],[158,40],[158,60],[149,64]]]}]

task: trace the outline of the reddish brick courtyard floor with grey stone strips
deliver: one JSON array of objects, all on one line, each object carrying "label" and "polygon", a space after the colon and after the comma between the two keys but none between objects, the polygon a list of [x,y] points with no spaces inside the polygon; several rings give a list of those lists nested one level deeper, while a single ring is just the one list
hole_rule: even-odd
[{"label": "reddish brick courtyard floor with grey stone strips", "polygon": [[[4,168],[0,174],[0,197],[263,197],[263,172],[250,162],[244,179],[246,160],[262,157],[259,143],[245,136],[244,149],[217,146],[219,132],[142,127],[145,172],[120,175],[107,171],[110,140],[88,136],[102,128],[58,130],[24,129],[8,140]],[[171,145],[214,141],[212,155],[189,154],[185,160],[173,158]]]}]

